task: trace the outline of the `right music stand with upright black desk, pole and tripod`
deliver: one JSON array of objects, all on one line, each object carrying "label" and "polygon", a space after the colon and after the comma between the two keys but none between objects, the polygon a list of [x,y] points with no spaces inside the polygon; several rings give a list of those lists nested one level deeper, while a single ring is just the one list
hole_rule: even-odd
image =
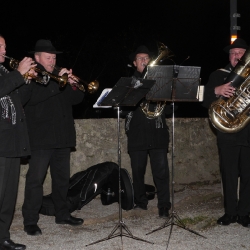
[{"label": "right music stand with upright black desk, pole and tripod", "polygon": [[146,98],[151,101],[169,101],[172,102],[172,208],[169,217],[165,223],[147,233],[151,234],[165,227],[171,226],[167,241],[167,248],[172,234],[173,226],[176,225],[191,233],[203,235],[186,227],[181,221],[174,208],[174,103],[175,102],[198,102],[199,101],[199,84],[200,84],[200,67],[191,66],[149,66],[148,79],[156,79],[156,83],[149,91]]}]

